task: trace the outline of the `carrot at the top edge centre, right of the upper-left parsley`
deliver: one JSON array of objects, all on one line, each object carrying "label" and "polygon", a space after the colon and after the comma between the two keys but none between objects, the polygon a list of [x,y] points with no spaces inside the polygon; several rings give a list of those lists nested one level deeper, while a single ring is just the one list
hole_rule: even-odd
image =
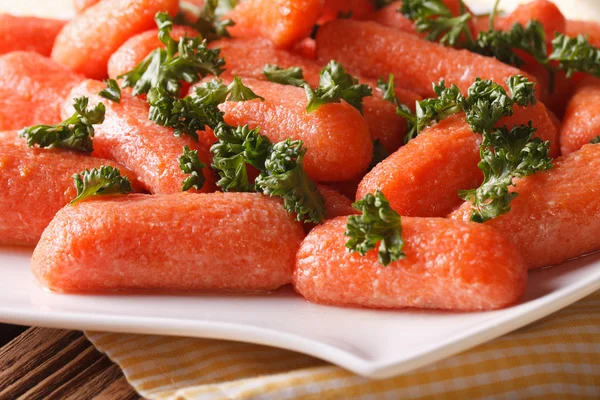
[{"label": "carrot at the top edge centre, right of the upper-left parsley", "polygon": [[234,37],[261,36],[278,47],[290,47],[310,34],[323,11],[323,0],[246,0],[225,18]]}]

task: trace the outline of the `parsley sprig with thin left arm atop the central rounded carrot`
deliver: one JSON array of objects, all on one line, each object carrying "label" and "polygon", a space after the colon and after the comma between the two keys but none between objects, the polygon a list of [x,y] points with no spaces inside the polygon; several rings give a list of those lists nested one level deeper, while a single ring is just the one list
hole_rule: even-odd
[{"label": "parsley sprig with thin left arm atop the central rounded carrot", "polygon": [[335,60],[321,70],[319,86],[313,89],[302,76],[302,69],[291,67],[282,69],[277,65],[267,64],[263,70],[271,82],[304,87],[308,105],[306,112],[311,113],[329,103],[339,103],[344,100],[362,113],[362,100],[372,95],[369,85],[360,84],[358,79],[346,72],[344,67]]}]

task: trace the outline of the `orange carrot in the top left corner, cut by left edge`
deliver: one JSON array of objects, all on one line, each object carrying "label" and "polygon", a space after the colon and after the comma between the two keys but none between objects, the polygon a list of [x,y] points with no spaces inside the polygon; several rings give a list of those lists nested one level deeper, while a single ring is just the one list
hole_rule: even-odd
[{"label": "orange carrot in the top left corner, cut by left edge", "polygon": [[49,56],[56,35],[66,23],[58,19],[0,14],[0,54],[23,50]]}]

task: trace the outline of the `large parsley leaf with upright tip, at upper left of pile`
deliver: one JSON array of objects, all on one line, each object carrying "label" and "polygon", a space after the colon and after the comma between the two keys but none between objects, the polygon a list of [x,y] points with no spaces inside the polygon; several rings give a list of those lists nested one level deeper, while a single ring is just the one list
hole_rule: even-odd
[{"label": "large parsley leaf with upright tip, at upper left of pile", "polygon": [[179,42],[171,37],[173,22],[169,14],[156,14],[158,37],[166,49],[156,49],[133,70],[120,75],[123,87],[133,88],[134,96],[161,87],[178,96],[181,82],[195,83],[207,75],[220,75],[225,60],[219,49],[209,49],[201,37],[182,37]]}]

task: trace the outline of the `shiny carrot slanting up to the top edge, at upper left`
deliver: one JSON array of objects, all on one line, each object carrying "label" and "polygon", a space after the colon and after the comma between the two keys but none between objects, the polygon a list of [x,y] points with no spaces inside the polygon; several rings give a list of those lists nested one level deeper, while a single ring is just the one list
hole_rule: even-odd
[{"label": "shiny carrot slanting up to the top edge, at upper left", "polygon": [[107,74],[108,58],[131,36],[155,27],[159,11],[177,13],[177,0],[101,1],[75,17],[56,37],[52,58],[90,78]]}]

